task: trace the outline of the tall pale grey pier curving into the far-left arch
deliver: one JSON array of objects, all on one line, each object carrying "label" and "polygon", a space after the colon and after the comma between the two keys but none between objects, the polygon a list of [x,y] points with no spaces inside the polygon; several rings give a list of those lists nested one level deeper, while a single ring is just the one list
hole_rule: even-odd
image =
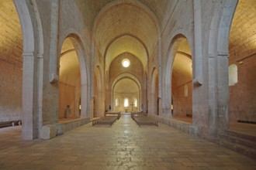
[{"label": "tall pale grey pier curving into the far-left arch", "polygon": [[35,0],[14,0],[22,26],[22,138],[40,138],[43,125],[43,29]]}]

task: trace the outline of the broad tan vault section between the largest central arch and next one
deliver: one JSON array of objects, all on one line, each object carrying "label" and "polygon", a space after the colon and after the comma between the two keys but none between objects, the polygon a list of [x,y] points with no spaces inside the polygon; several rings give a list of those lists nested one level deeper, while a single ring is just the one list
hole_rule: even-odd
[{"label": "broad tan vault section between the largest central arch and next one", "polygon": [[[95,44],[102,54],[112,42],[112,37],[119,35],[137,37],[147,47],[149,54],[157,46],[158,26],[154,17],[144,8],[132,3],[121,3],[103,10],[96,19],[94,29]],[[130,42],[123,41],[120,46],[124,48],[127,43]]]}]

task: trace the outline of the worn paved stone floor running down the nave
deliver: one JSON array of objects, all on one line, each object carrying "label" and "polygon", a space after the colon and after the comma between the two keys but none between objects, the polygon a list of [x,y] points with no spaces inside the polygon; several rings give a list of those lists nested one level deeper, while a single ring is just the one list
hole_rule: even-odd
[{"label": "worn paved stone floor running down the nave", "polygon": [[22,141],[20,133],[0,129],[0,169],[256,169],[244,155],[164,124],[140,128],[129,115],[48,141]]}]

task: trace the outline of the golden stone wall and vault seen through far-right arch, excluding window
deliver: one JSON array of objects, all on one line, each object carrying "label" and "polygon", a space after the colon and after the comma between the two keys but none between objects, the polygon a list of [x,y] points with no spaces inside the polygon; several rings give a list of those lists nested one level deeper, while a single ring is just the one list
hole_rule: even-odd
[{"label": "golden stone wall and vault seen through far-right arch, excluding window", "polygon": [[240,0],[230,29],[229,65],[237,65],[230,86],[230,121],[256,121],[256,12],[254,0]]}]

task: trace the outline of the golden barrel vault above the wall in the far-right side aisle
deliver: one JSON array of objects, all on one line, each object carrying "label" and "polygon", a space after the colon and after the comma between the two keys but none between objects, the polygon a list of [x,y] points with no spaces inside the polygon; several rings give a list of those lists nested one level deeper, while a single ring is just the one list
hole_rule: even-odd
[{"label": "golden barrel vault above the wall in the far-right side aisle", "polygon": [[256,1],[240,0],[230,29],[230,59],[256,53]]}]

